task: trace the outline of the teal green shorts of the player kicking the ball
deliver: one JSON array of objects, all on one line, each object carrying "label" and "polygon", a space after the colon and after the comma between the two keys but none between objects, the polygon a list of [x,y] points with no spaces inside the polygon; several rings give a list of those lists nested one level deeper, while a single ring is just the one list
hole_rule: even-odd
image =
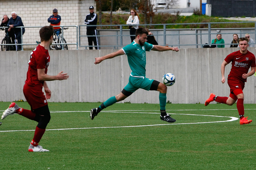
[{"label": "teal green shorts of the player kicking the ball", "polygon": [[[150,87],[153,83],[153,79],[148,79],[146,77],[132,77],[130,75],[128,84],[124,87],[126,91],[134,92],[139,88],[142,88],[144,90],[150,90]],[[159,83],[158,83],[159,84]],[[157,84],[157,85],[158,85]]]}]

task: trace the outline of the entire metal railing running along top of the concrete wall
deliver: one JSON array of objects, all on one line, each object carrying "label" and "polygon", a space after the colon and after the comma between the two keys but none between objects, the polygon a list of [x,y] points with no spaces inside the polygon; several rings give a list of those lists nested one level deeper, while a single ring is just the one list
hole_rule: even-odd
[{"label": "entire metal railing running along top of the concrete wall", "polygon": [[[178,43],[177,44],[172,44],[172,45],[169,45],[169,46],[196,46],[196,48],[198,48],[198,46],[203,46],[205,44],[202,44],[202,35],[208,35],[208,44],[209,45],[212,45],[211,44],[211,35],[212,34],[215,34],[216,35],[216,32],[212,33],[211,30],[234,30],[234,28],[211,28],[211,24],[228,24],[228,23],[254,23],[254,26],[256,27],[256,21],[242,21],[242,22],[205,22],[205,23],[171,23],[171,24],[140,24],[139,26],[143,26],[143,27],[148,27],[148,26],[153,26],[153,25],[162,25],[163,26],[163,29],[157,29],[157,30],[161,30],[163,31],[163,34],[154,34],[154,36],[158,37],[158,36],[163,36],[163,44],[159,44],[159,45],[163,45],[163,46],[166,46],[166,37],[167,36],[178,36]],[[208,28],[205,28],[205,29],[167,29],[167,26],[168,25],[189,25],[189,24],[207,24],[208,25]],[[76,27],[76,43],[58,43],[58,44],[61,44],[62,45],[62,49],[63,49],[63,45],[76,45],[76,49],[78,50],[78,47],[85,47],[85,49],[87,49],[87,47],[95,47],[94,45],[92,46],[89,46],[89,45],[83,45],[81,44],[81,38],[82,37],[95,37],[95,35],[82,35],[81,34],[81,28],[86,27],[87,25],[60,25],[60,26],[54,26],[54,27],[61,27],[61,31],[62,31],[62,37],[64,35],[64,32],[63,32],[63,27]],[[123,34],[123,31],[128,31],[128,29],[124,29],[124,27],[127,27],[128,25],[126,24],[120,24],[120,25],[90,25],[90,26],[97,26],[97,27],[120,27],[120,29],[115,29],[115,30],[105,30],[105,31],[118,31],[120,32],[120,34],[118,34],[118,32],[115,34],[115,35],[97,35],[97,37],[116,37],[116,44],[111,44],[111,45],[99,45],[98,47],[113,47],[114,49],[116,47],[124,47],[126,44],[123,44],[123,37],[125,36],[131,36],[131,35],[124,35]],[[134,25],[135,26],[135,25]],[[240,30],[240,32],[229,32],[229,33],[221,33],[221,34],[240,34],[240,37],[241,37],[241,30],[251,30],[251,29],[254,29],[254,32],[247,32],[249,34],[254,34],[254,40],[256,40],[256,29],[254,28],[236,28],[236,30]],[[8,28],[8,27],[0,27],[1,28]],[[15,27],[15,28],[20,28],[20,31],[22,33],[22,30],[23,28],[41,28],[41,26],[38,26],[38,27]],[[178,31],[177,34],[167,34],[167,31]],[[194,30],[195,33],[191,33],[191,34],[181,34],[180,31],[184,31],[184,30]],[[203,30],[208,30],[208,33],[202,33]],[[85,31],[83,31],[85,32]],[[195,44],[180,44],[180,36],[183,36],[183,35],[195,35],[195,40],[196,40],[196,43]],[[199,41],[200,43],[198,43],[198,35],[199,35]],[[29,43],[29,44],[24,44],[23,43],[23,34],[21,34],[21,40],[22,40],[22,43],[21,44],[15,44],[15,45],[21,45],[22,46],[22,50],[23,50],[23,46],[24,45],[37,45],[35,43]],[[63,40],[63,38],[62,38]],[[120,42],[120,44],[119,44]],[[255,44],[255,43],[254,43]],[[13,44],[5,44],[5,45],[13,45]],[[233,45],[231,43],[225,43],[225,44],[218,44],[218,45]]]}]

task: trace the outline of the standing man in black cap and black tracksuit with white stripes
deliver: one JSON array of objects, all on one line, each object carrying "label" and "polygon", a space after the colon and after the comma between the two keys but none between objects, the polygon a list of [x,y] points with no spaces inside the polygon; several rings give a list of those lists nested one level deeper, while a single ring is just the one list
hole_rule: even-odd
[{"label": "standing man in black cap and black tracksuit with white stripes", "polygon": [[[85,17],[84,23],[87,24],[87,31],[86,31],[86,35],[97,35],[97,30],[96,30],[96,26],[89,26],[89,25],[97,25],[97,21],[98,21],[98,16],[97,14],[94,13],[94,7],[90,6],[89,7],[90,10],[90,14],[87,14],[87,16]],[[97,36],[90,36],[87,37],[88,38],[88,45],[92,45],[92,42],[94,43],[94,47],[95,49],[98,49],[98,38]],[[90,50],[92,50],[92,47],[89,47]]]}]

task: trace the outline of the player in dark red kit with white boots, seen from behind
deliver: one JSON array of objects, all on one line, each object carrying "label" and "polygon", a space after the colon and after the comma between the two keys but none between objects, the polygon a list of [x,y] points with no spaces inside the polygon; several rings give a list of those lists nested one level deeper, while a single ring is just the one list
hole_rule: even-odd
[{"label": "player in dark red kit with white boots, seen from behind", "polygon": [[[31,110],[20,108],[16,103],[13,102],[10,104],[10,107],[3,112],[1,117],[1,119],[4,119],[10,114],[18,113],[30,120],[38,122],[34,138],[30,142],[30,146],[28,148],[29,152],[49,151],[38,145],[45,133],[46,126],[51,119],[48,103],[46,101],[46,99],[50,99],[51,91],[48,88],[46,81],[66,80],[69,77],[67,73],[63,73],[63,71],[54,76],[47,74],[50,63],[48,48],[53,41],[53,32],[54,29],[52,25],[42,27],[39,31],[41,44],[39,44],[30,53],[27,79],[23,87],[23,93],[31,107]],[[44,95],[42,87],[44,87],[46,95]]]}]

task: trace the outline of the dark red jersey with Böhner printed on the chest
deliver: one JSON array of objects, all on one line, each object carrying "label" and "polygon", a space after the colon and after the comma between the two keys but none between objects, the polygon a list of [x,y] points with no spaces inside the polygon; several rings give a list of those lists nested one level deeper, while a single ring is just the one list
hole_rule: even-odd
[{"label": "dark red jersey with B\u00f6hner printed on the chest", "polygon": [[229,54],[225,58],[225,61],[227,63],[232,62],[231,63],[232,67],[231,67],[228,77],[230,77],[230,78],[234,77],[234,78],[237,78],[244,82],[246,82],[247,79],[243,79],[242,75],[247,74],[250,67],[256,67],[255,56],[248,50],[247,50],[246,54],[240,53],[240,50],[235,51],[235,52]]}]

